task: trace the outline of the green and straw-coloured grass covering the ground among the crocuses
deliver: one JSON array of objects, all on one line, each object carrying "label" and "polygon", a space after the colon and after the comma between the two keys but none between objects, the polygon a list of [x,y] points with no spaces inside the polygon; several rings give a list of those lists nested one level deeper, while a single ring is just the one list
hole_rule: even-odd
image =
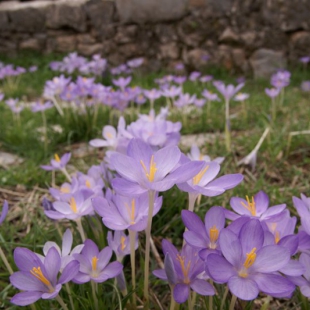
[{"label": "green and straw-coloured grass covering the ground among the crocuses", "polygon": [[[52,60],[61,59],[62,55],[39,54],[21,54],[16,58],[0,56],[0,61],[13,63],[15,65],[29,67],[37,65],[39,70],[35,73],[26,73],[20,76],[18,83],[10,85],[7,82],[0,82],[0,91],[2,90],[8,97],[22,98],[28,102],[39,98],[42,94],[46,80],[52,79],[57,73],[48,68]],[[223,79],[225,82],[233,82],[235,77],[222,69],[207,67],[206,73],[213,74],[216,79]],[[132,85],[139,85],[145,88],[155,87],[153,80],[155,77],[162,76],[164,73],[150,73],[146,76],[135,76]],[[229,207],[229,200],[232,196],[253,195],[259,190],[264,190],[270,197],[271,205],[286,203],[292,214],[296,214],[292,205],[292,196],[299,196],[305,193],[309,196],[310,180],[310,143],[309,136],[302,135],[293,137],[290,149],[287,150],[287,140],[289,132],[309,129],[310,104],[309,95],[301,93],[299,85],[302,80],[310,79],[310,72],[300,69],[292,71],[292,82],[285,89],[285,99],[283,105],[279,108],[276,121],[270,122],[270,99],[265,95],[264,88],[269,83],[266,80],[248,80],[242,91],[250,94],[247,102],[248,117],[242,117],[241,105],[238,102],[231,102],[231,114],[236,117],[231,120],[233,152],[226,153],[223,129],[224,129],[224,104],[212,103],[210,115],[207,110],[193,111],[185,117],[179,113],[172,113],[172,121],[183,121],[182,135],[209,133],[212,137],[211,142],[205,142],[202,146],[203,152],[210,155],[211,158],[225,156],[222,164],[221,173],[243,173],[244,182],[233,190],[225,194],[214,197],[203,197],[197,213],[204,217],[206,210],[213,205]],[[107,81],[108,82],[108,81]],[[200,94],[205,86],[187,82],[184,85],[184,91],[191,94]],[[211,86],[212,88],[212,86]],[[213,89],[213,88],[212,88]],[[164,105],[164,100],[158,100],[158,106]],[[145,108],[144,112],[147,112]],[[87,143],[90,139],[100,137],[102,127],[109,123],[110,111],[101,109],[96,122],[93,122],[90,115],[76,115],[66,113],[66,117],[61,118],[53,110],[47,111],[48,128],[48,147],[44,149],[44,143],[37,128],[42,126],[40,113],[33,114],[25,110],[21,115],[21,123],[17,124],[12,118],[9,109],[0,104],[0,147],[1,150],[16,154],[23,158],[23,163],[16,166],[0,167],[0,201],[7,199],[10,203],[10,213],[7,220],[1,226],[0,245],[7,253],[9,261],[13,263],[12,251],[16,246],[28,247],[33,251],[41,251],[43,244],[48,240],[61,243],[59,232],[64,232],[66,227],[71,224],[68,221],[61,221],[55,226],[44,215],[40,207],[42,196],[48,196],[48,187],[51,185],[51,174],[39,168],[42,164],[47,164],[55,153],[63,154],[67,151],[74,151],[79,145]],[[130,116],[126,115],[127,124],[130,123]],[[53,126],[59,125],[62,132],[57,132]],[[117,125],[117,118],[112,119],[112,125]],[[254,171],[249,167],[237,166],[237,162],[246,156],[256,145],[260,136],[267,126],[271,131],[263,143],[257,159],[257,166]],[[183,151],[187,152],[188,148]],[[85,152],[82,155],[73,152],[71,168],[74,166],[83,172],[92,164],[99,164],[103,158],[103,152],[92,151]],[[56,173],[56,184],[61,184],[65,179],[60,173]],[[187,195],[173,188],[165,193],[164,206],[159,214],[153,220],[152,235],[157,248],[161,248],[161,240],[168,238],[177,246],[182,245],[181,236],[184,226],[180,219],[180,212],[187,207]],[[85,221],[86,232],[92,236],[98,245],[105,246],[106,231],[98,225],[97,222],[91,223]],[[95,228],[94,228],[95,227]],[[98,233],[98,231],[100,233]],[[79,236],[75,233],[74,240]],[[143,249],[143,238],[141,238]],[[0,261],[1,262],[1,261]],[[129,259],[125,259],[125,273],[130,274]],[[143,262],[141,262],[143,264]],[[155,261],[152,261],[152,268],[158,268]],[[143,268],[137,271],[137,287],[142,289]],[[8,273],[0,265],[0,307],[6,309],[15,309],[9,303],[16,290],[8,284]],[[112,282],[111,282],[112,283]],[[117,309],[117,291],[111,283],[105,283],[100,286],[101,306],[104,309]],[[169,303],[169,294],[167,286],[161,281],[151,280],[152,290],[160,296],[160,301],[153,299],[153,308],[160,309],[160,305],[165,308]],[[112,286],[112,287],[111,287]],[[92,308],[91,298],[88,298],[90,288],[86,286],[73,285],[74,302],[77,309]],[[139,295],[139,294],[138,294]],[[67,295],[62,294],[65,302]],[[297,295],[296,295],[297,296]],[[300,299],[295,296],[293,299],[294,307],[300,305]],[[2,301],[1,301],[2,300]],[[112,300],[112,304],[111,304]],[[204,302],[202,299],[201,303]],[[215,303],[219,301],[215,298]],[[122,301],[123,306],[126,300]],[[109,305],[109,306],[108,306]],[[286,307],[287,301],[282,303]],[[241,306],[239,304],[239,306]],[[256,306],[252,305],[254,308]],[[54,301],[38,301],[36,309],[55,309],[57,307]],[[196,309],[200,309],[202,304]],[[245,307],[245,306],[244,306]],[[247,308],[251,305],[247,305]],[[275,307],[278,309],[278,307]],[[293,309],[293,307],[290,306]],[[181,306],[180,309],[186,309]],[[306,309],[306,308],[303,308]]]}]

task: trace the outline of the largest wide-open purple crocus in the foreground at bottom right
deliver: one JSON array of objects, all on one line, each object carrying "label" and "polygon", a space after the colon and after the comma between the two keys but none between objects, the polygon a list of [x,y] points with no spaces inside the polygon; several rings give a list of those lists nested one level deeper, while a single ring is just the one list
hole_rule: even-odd
[{"label": "largest wide-open purple crocus in the foreground at bottom right", "polygon": [[289,250],[278,245],[264,246],[264,230],[258,220],[246,222],[237,236],[222,230],[219,244],[223,256],[210,254],[206,271],[216,283],[228,283],[240,299],[255,299],[259,292],[273,297],[290,297],[294,284],[277,271],[290,260]]}]

